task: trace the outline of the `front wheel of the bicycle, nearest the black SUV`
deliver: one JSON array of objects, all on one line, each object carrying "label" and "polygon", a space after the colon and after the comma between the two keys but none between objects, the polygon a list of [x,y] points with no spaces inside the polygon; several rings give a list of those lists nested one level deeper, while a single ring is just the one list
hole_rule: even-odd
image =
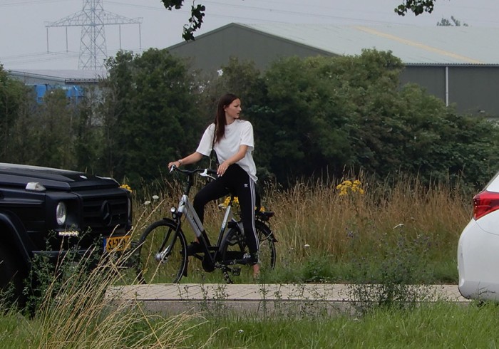
[{"label": "front wheel of the bicycle, nearest the black SUV", "polygon": [[187,267],[187,243],[171,219],[155,222],[140,236],[138,280],[141,283],[177,283]]}]

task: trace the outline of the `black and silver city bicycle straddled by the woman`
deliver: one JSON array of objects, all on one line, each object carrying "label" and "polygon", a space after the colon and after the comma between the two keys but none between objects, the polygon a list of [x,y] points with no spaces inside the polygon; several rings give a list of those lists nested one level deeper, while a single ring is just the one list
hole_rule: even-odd
[{"label": "black and silver city bicycle straddled by the woman", "polygon": [[[240,275],[237,265],[249,264],[249,251],[246,246],[242,222],[232,216],[234,196],[225,207],[224,218],[220,226],[217,244],[211,245],[199,217],[189,199],[190,189],[194,184],[194,175],[215,179],[216,171],[210,169],[180,170],[173,166],[170,172],[177,171],[187,176],[183,194],[178,207],[170,209],[172,218],[163,218],[150,224],[138,241],[138,279],[142,283],[178,283],[182,276],[187,276],[188,257],[193,256],[202,262],[207,272],[220,269],[227,283],[232,283],[229,274]],[[277,239],[270,229],[269,219],[274,212],[255,211],[255,229],[259,239],[259,264],[262,269],[274,269],[276,264]],[[182,231],[182,219],[195,232],[201,251],[189,253],[187,240]]]}]

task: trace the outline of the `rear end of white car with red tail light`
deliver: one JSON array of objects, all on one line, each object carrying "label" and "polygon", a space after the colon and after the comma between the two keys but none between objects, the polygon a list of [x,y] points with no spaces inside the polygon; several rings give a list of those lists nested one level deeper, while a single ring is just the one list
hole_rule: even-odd
[{"label": "rear end of white car with red tail light", "polygon": [[499,301],[499,172],[473,197],[473,218],[458,244],[459,292]]}]

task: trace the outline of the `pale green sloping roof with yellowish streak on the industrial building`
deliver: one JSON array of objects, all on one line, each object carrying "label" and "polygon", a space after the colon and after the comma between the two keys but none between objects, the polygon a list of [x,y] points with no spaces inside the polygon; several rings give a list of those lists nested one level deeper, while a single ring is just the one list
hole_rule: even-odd
[{"label": "pale green sloping roof with yellowish streak on the industrial building", "polygon": [[391,51],[407,64],[499,64],[499,28],[470,26],[333,26],[230,24],[319,48],[359,55],[364,48]]}]

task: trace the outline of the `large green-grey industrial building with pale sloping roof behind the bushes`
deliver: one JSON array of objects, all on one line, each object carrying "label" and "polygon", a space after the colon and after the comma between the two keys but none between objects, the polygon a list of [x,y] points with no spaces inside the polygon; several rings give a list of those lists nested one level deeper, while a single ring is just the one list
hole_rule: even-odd
[{"label": "large green-grey industrial building with pale sloping roof behind the bushes", "polygon": [[265,69],[286,56],[356,56],[391,51],[406,68],[400,83],[417,83],[458,113],[499,118],[499,28],[469,26],[333,26],[228,24],[170,46],[192,68],[217,71],[230,57]]}]

